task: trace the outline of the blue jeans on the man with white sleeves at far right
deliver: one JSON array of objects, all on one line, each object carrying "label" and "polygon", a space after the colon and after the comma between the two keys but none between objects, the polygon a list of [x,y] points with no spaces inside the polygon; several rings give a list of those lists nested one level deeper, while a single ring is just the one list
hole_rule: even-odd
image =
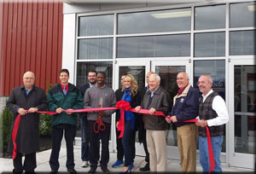
[{"label": "blue jeans on the man with white sleeves at far right", "polygon": [[[211,141],[212,141],[212,151],[213,151],[214,161],[215,161],[215,167],[212,172],[222,172],[220,153],[222,148],[221,145],[223,142],[223,136],[211,137]],[[207,137],[199,136],[199,155],[200,155],[200,164],[203,169],[203,172],[210,171]]]}]

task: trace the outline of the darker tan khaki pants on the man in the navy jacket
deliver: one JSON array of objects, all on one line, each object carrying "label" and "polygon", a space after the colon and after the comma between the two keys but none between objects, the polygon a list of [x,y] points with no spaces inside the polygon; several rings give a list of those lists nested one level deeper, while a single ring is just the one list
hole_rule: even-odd
[{"label": "darker tan khaki pants on the man in the navy jacket", "polygon": [[195,172],[197,136],[198,128],[195,124],[177,127],[177,147],[183,172]]}]

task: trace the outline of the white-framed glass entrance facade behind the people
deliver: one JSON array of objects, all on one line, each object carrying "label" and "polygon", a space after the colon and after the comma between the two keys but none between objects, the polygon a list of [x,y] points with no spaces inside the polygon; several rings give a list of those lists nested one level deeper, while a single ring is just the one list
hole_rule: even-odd
[{"label": "white-framed glass entrance facade behind the people", "polygon": [[[62,67],[78,86],[86,83],[90,70],[103,71],[113,90],[119,88],[122,73],[134,75],[142,88],[145,74],[154,71],[171,96],[177,93],[177,73],[189,73],[195,88],[202,73],[211,74],[213,90],[230,113],[222,162],[253,168],[255,2],[144,2],[64,3]],[[111,140],[114,129],[112,124]],[[168,158],[179,159],[175,127],[166,140]],[[112,150],[115,147],[111,141]],[[138,143],[137,154],[143,154]]]}]

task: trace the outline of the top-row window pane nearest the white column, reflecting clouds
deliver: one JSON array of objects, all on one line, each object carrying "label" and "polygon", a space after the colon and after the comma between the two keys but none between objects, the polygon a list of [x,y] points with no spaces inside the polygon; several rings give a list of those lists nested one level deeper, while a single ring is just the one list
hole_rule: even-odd
[{"label": "top-row window pane nearest the white column, reflecting clouds", "polygon": [[113,14],[79,17],[79,37],[113,35]]}]

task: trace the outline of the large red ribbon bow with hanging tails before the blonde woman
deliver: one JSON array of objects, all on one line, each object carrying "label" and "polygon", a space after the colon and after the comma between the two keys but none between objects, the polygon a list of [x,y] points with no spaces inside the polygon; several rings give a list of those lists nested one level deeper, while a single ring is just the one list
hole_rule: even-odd
[{"label": "large red ribbon bow with hanging tails before the blonde woman", "polygon": [[121,109],[121,116],[119,119],[118,131],[120,132],[119,138],[124,136],[125,131],[125,111],[130,109],[130,102],[125,102],[124,100],[116,103],[116,108]]}]

